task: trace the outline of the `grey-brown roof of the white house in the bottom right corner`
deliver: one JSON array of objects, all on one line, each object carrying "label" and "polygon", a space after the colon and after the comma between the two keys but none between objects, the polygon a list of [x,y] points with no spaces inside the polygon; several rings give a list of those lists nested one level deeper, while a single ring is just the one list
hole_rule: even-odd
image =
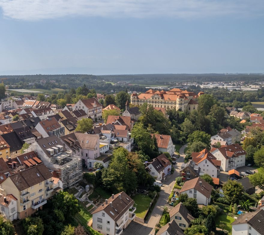
[{"label": "grey-brown roof of the white house in the bottom right corner", "polygon": [[259,234],[264,234],[264,210],[257,209],[254,212],[240,215],[231,225],[249,224]]}]

